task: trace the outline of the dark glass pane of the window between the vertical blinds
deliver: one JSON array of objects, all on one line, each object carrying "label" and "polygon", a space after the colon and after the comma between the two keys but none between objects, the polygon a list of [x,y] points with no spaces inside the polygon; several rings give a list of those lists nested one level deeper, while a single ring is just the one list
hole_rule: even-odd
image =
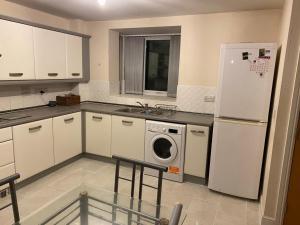
[{"label": "dark glass pane of the window between the vertical blinds", "polygon": [[147,40],[145,90],[167,91],[170,40]]}]

